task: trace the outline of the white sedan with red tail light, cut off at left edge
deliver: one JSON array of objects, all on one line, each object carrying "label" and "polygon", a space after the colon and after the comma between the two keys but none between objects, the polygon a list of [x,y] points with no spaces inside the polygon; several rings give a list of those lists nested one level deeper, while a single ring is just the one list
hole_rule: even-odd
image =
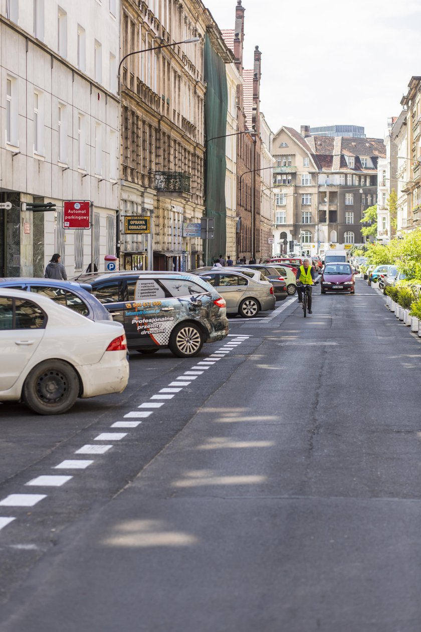
[{"label": "white sedan with red tail light, cut off at left edge", "polygon": [[122,392],[129,380],[124,327],[93,321],[40,294],[0,288],[0,401],[40,415],[78,397]]}]

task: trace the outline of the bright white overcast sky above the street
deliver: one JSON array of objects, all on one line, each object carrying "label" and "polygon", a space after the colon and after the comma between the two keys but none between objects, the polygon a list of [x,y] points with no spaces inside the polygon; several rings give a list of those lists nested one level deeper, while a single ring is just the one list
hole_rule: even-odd
[{"label": "bright white overcast sky above the street", "polygon": [[[237,0],[203,0],[234,28]],[[262,52],[261,111],[282,125],[362,125],[383,138],[421,75],[421,0],[242,0],[244,66]]]}]

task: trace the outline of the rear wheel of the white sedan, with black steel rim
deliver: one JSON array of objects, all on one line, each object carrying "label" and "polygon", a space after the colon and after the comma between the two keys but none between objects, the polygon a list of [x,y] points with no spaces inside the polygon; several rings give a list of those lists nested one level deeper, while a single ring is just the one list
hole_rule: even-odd
[{"label": "rear wheel of the white sedan, with black steel rim", "polygon": [[28,408],[39,415],[60,415],[78,398],[79,379],[62,360],[45,360],[34,367],[23,384],[22,396]]}]

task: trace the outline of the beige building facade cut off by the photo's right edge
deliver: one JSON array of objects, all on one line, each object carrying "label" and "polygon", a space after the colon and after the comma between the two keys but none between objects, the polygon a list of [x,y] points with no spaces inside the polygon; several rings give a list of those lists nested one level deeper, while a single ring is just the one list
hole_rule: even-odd
[{"label": "beige building facade cut off by the photo's right edge", "polygon": [[[399,226],[401,233],[413,231],[421,221],[421,76],[412,76],[408,92],[401,99],[406,109],[405,185],[406,217]],[[402,166],[401,173],[405,167]]]}]

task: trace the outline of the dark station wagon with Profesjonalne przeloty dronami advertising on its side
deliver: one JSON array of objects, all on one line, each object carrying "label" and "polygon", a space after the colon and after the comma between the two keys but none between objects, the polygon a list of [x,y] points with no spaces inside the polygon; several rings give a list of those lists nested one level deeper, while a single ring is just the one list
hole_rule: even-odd
[{"label": "dark station wagon with Profesjonalne przeloty dronami advertising on its side", "polygon": [[196,275],[121,271],[88,278],[92,293],[124,325],[129,349],[154,353],[169,348],[187,358],[228,334],[225,300]]}]

